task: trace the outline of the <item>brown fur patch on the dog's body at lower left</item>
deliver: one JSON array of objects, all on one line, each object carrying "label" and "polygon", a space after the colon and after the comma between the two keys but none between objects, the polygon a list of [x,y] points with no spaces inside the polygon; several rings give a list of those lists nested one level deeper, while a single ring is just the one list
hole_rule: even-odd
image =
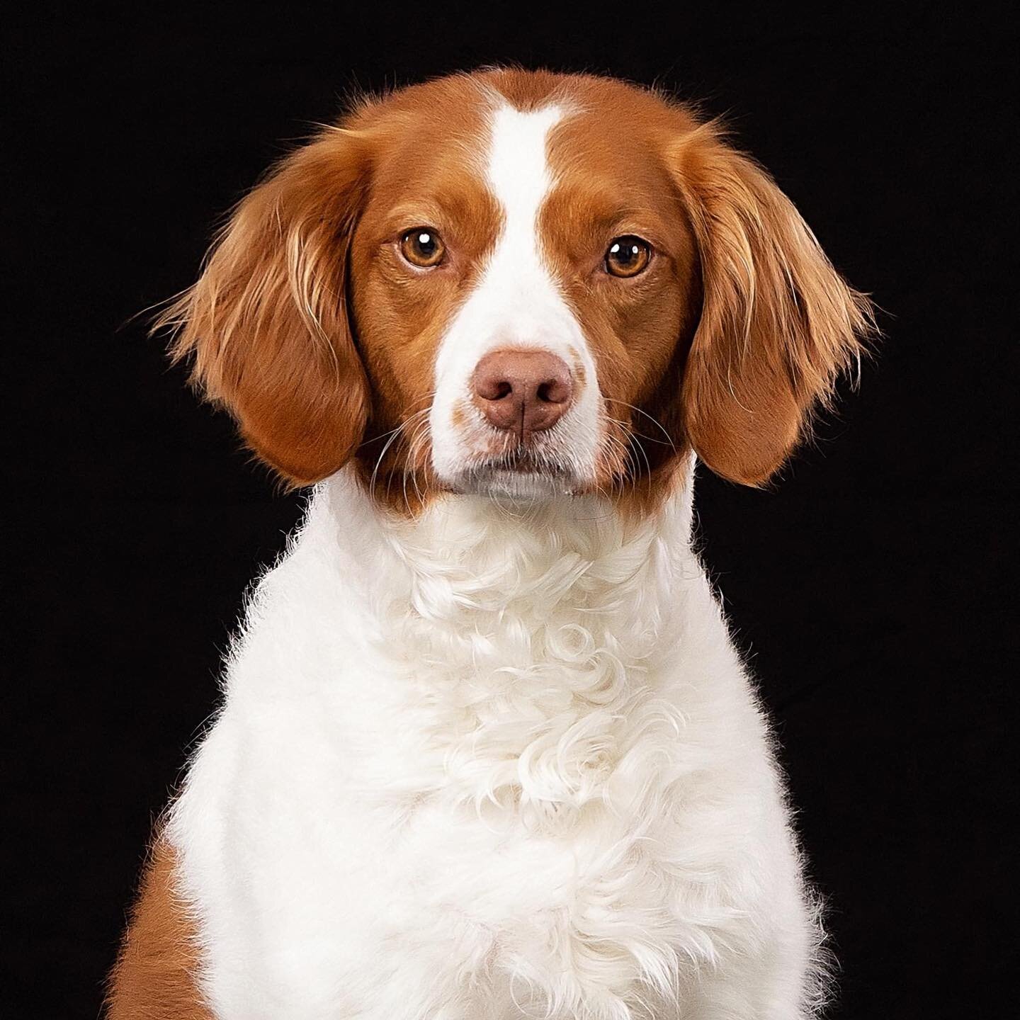
[{"label": "brown fur patch on the dog's body at lower left", "polygon": [[157,838],[110,974],[107,1020],[213,1020],[196,983],[195,930],[173,870],[173,849]]}]

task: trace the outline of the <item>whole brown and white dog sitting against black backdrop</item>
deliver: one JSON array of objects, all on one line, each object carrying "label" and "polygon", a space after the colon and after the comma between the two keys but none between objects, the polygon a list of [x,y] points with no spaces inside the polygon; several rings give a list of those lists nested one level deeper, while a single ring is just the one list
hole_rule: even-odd
[{"label": "whole brown and white dog sitting against black backdrop", "polygon": [[162,315],[314,487],[156,828],[110,1020],[795,1020],[773,736],[692,549],[873,329],[718,124],[486,68],[358,102]]}]

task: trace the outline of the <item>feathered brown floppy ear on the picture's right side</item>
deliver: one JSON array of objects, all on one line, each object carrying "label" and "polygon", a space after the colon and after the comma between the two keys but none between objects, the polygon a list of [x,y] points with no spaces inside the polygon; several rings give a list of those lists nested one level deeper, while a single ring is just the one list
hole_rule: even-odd
[{"label": "feathered brown floppy ear on the picture's right side", "polygon": [[671,162],[703,288],[681,390],[684,428],[712,470],[758,486],[860,358],[871,304],[832,268],[771,177],[713,125],[681,142]]}]

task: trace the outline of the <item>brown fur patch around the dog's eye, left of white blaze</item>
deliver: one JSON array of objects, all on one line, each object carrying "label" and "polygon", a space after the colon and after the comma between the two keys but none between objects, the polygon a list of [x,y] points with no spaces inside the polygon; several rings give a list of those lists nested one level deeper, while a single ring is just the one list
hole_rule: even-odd
[{"label": "brown fur patch around the dog's eye, left of white blaze", "polygon": [[[376,499],[401,512],[438,491],[423,420],[436,355],[500,230],[495,200],[465,166],[484,126],[479,99],[477,83],[456,75],[397,93],[365,114],[376,169],[355,232],[351,295],[372,410],[356,465],[366,482],[374,479]],[[423,225],[447,250],[424,272],[399,253],[402,235]]]}]

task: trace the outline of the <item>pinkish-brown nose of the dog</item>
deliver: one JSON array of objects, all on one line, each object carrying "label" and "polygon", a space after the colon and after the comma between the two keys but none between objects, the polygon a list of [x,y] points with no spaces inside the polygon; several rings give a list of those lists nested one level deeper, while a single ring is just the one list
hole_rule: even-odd
[{"label": "pinkish-brown nose of the dog", "polygon": [[548,351],[492,351],[475,367],[472,385],[490,424],[517,431],[521,443],[552,428],[573,396],[570,369]]}]

